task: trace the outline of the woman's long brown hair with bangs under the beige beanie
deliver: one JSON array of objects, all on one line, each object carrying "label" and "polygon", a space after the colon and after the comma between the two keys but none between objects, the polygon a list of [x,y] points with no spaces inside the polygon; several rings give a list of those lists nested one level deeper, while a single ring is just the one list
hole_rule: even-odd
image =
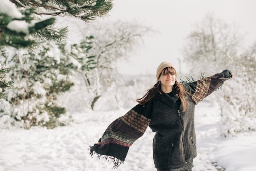
[{"label": "woman's long brown hair with bangs under the beige beanie", "polygon": [[[163,69],[163,71],[170,74],[176,74],[175,69],[172,67],[166,67]],[[162,75],[162,72],[159,75],[159,77],[161,75]],[[173,88],[176,90],[177,95],[180,97],[181,103],[183,105],[183,111],[185,111],[186,101],[184,96],[188,95],[188,92],[184,89],[182,84],[178,83],[177,78],[175,80]],[[140,105],[145,105],[148,101],[154,98],[157,93],[162,94],[160,90],[161,90],[161,84],[160,84],[160,81],[157,81],[157,83],[151,89],[148,89],[146,91],[146,94],[143,97],[136,99],[136,101]]]}]

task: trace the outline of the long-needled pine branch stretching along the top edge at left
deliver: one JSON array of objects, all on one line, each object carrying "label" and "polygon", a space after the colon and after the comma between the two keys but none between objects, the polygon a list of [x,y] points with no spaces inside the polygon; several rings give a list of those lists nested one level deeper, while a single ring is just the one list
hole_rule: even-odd
[{"label": "long-needled pine branch stretching along the top edge at left", "polygon": [[10,0],[20,7],[35,8],[37,15],[72,16],[89,22],[105,16],[113,7],[112,0]]}]

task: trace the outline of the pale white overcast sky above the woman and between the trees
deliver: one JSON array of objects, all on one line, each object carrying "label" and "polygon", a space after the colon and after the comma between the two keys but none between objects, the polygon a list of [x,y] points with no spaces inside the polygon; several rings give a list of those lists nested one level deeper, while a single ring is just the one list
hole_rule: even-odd
[{"label": "pale white overcast sky above the woman and between the trees", "polygon": [[[118,64],[123,74],[155,74],[162,61],[169,61],[186,71],[182,47],[192,25],[209,12],[228,24],[240,26],[247,33],[244,45],[256,41],[256,0],[114,0],[108,16],[98,21],[133,21],[157,30],[159,34],[144,38],[144,47],[138,49],[128,62]],[[92,23],[93,24],[93,23]],[[72,31],[72,30],[71,30]]]}]

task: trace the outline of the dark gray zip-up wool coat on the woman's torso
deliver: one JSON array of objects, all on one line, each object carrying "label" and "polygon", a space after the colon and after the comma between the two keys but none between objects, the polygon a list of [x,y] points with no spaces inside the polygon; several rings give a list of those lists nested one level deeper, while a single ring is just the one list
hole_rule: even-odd
[{"label": "dark gray zip-up wool coat on the woman's torso", "polygon": [[[156,168],[177,168],[196,157],[194,109],[196,103],[185,97],[186,110],[178,96],[162,92],[152,102],[149,127],[156,132],[153,139],[153,158]],[[171,105],[170,105],[171,104]],[[178,106],[176,108],[175,106]]]}]

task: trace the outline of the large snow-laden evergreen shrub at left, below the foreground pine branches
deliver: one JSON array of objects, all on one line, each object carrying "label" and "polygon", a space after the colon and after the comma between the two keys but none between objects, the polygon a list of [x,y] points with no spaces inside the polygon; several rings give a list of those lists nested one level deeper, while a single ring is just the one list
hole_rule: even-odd
[{"label": "large snow-laden evergreen shrub at left, below the foreground pine branches", "polygon": [[[74,85],[72,77],[76,72],[86,74],[94,68],[93,57],[86,53],[91,48],[89,44],[48,43],[36,52],[15,51],[5,61],[15,83],[0,106],[0,115],[10,115],[24,128],[61,124],[57,118],[66,110],[57,106],[57,97]],[[82,45],[86,47],[81,48]]]}]

